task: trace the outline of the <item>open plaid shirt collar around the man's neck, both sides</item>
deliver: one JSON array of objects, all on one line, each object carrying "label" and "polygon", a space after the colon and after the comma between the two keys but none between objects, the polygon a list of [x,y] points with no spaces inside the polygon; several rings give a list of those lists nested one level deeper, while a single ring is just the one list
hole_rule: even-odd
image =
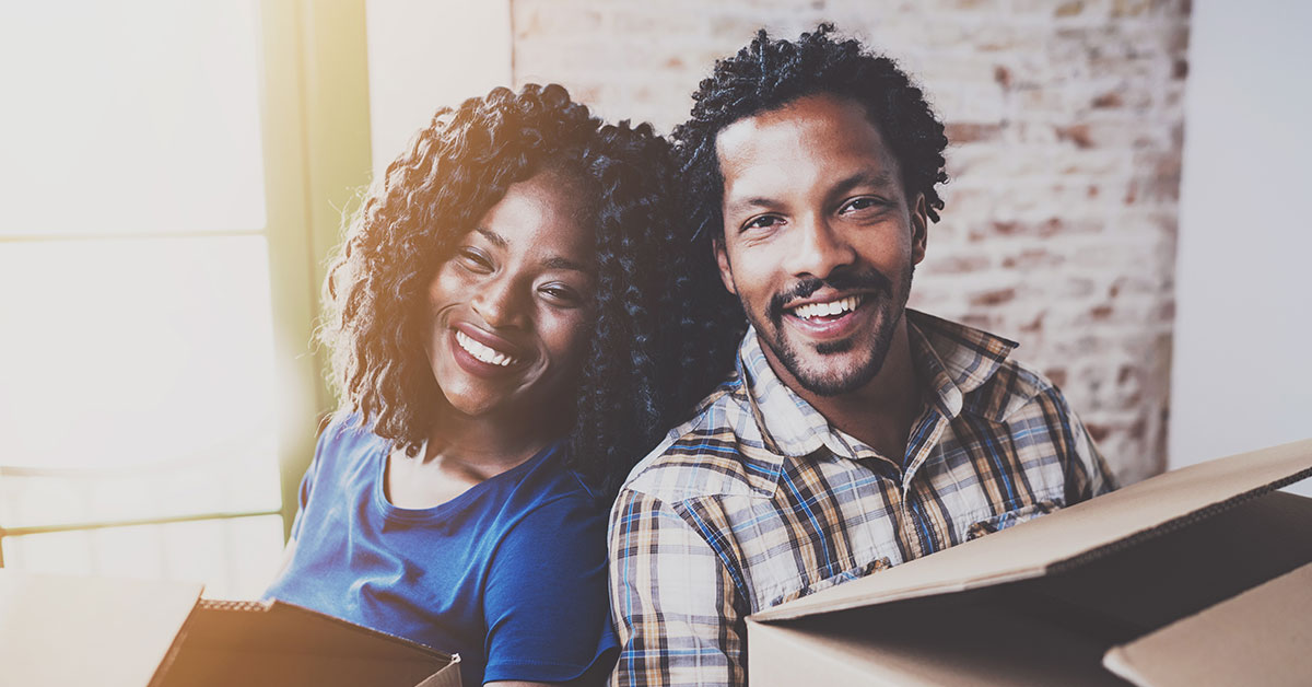
[{"label": "open plaid shirt collar around the man's neck, both sides", "polygon": [[[955,418],[966,394],[997,372],[1015,342],[916,310],[907,310],[912,361],[934,407]],[[811,403],[789,389],[770,368],[756,327],[739,345],[737,373],[743,380],[765,448],[778,456],[803,457],[821,447],[855,458],[859,443],[834,430]]]}]

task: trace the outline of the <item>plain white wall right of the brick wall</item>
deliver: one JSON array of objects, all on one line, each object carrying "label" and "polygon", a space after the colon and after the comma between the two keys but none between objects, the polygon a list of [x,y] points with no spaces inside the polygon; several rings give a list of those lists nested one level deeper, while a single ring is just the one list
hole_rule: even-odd
[{"label": "plain white wall right of the brick wall", "polygon": [[1194,3],[1170,468],[1312,437],[1309,26],[1302,0]]}]

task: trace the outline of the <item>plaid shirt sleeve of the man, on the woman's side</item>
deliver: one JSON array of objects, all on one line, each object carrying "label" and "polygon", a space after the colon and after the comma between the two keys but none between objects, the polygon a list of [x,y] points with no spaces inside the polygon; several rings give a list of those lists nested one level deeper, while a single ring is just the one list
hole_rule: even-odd
[{"label": "plaid shirt sleeve of the man, on the woman's side", "polygon": [[[695,515],[686,511],[695,521]],[[743,684],[737,587],[695,523],[625,491],[611,510],[610,602],[619,634],[614,687]]]}]

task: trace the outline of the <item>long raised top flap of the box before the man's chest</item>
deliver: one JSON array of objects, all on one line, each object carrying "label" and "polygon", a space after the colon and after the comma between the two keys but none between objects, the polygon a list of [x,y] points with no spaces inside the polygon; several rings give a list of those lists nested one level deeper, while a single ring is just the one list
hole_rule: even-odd
[{"label": "long raised top flap of the box before the man's chest", "polygon": [[752,620],[804,617],[1029,579],[1076,567],[1312,476],[1312,440],[1191,465],[838,585]]}]

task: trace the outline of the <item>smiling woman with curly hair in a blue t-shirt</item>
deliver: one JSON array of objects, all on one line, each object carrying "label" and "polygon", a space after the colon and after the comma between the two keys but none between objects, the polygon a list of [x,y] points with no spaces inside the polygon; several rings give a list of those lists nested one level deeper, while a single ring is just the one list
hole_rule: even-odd
[{"label": "smiling woman with curly hair in a blue t-shirt", "polygon": [[559,85],[420,131],[328,276],[341,411],[268,596],[459,653],[466,684],[610,670],[605,497],[708,384],[669,373],[695,345],[666,158]]}]

